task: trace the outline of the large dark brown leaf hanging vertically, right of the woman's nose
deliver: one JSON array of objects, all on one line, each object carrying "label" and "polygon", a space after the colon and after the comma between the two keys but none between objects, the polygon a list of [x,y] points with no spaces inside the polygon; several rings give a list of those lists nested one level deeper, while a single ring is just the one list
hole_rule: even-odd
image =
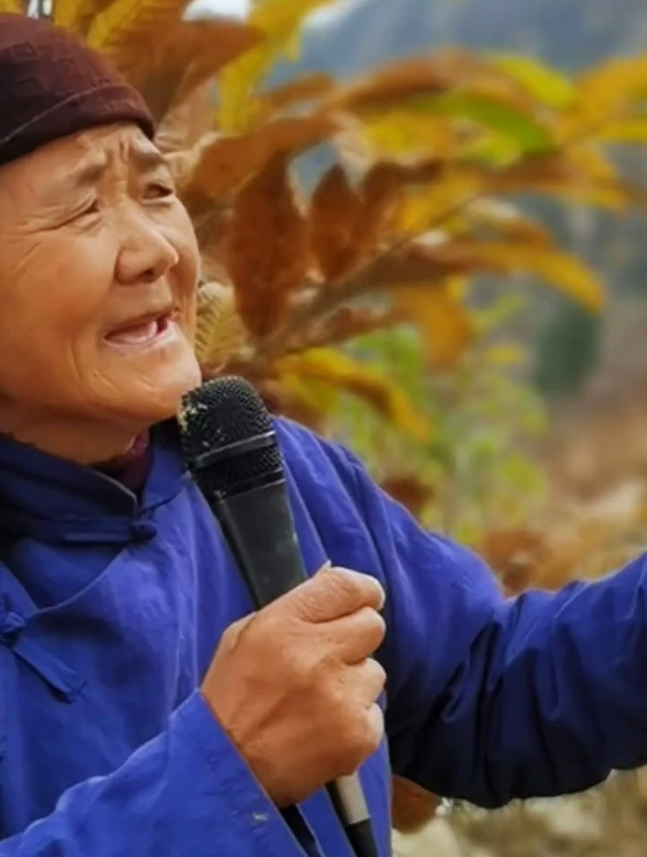
[{"label": "large dark brown leaf hanging vertically, right of the woman's nose", "polygon": [[308,263],[307,222],[289,182],[288,156],[272,157],[240,192],[225,250],[245,325],[256,337],[269,335],[285,318]]}]

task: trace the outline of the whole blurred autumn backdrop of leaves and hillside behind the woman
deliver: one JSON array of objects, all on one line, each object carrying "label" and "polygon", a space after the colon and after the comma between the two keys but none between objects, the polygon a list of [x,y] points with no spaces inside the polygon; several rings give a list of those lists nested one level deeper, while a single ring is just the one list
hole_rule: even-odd
[{"label": "whole blurred autumn backdrop of leaves and hillside behind the woman", "polygon": [[[643,0],[48,0],[161,122],[206,372],[341,439],[509,594],[647,531]],[[647,780],[496,813],[395,783],[402,857],[643,854]]]}]

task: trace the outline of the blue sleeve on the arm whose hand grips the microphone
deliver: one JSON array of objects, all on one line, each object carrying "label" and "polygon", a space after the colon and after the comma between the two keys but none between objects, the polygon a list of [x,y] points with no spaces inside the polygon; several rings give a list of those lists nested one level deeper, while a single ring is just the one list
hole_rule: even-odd
[{"label": "blue sleeve on the arm whose hand grips the microphone", "polygon": [[198,692],[117,771],[67,790],[0,857],[304,857]]}]

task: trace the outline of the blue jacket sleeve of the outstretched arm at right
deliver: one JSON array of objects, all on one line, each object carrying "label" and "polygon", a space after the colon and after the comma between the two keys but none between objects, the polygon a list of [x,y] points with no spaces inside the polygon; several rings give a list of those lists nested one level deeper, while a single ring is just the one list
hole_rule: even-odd
[{"label": "blue jacket sleeve of the outstretched arm at right", "polygon": [[387,590],[395,772],[494,808],[647,763],[644,557],[506,599],[480,558],[422,531],[350,456],[349,467]]}]

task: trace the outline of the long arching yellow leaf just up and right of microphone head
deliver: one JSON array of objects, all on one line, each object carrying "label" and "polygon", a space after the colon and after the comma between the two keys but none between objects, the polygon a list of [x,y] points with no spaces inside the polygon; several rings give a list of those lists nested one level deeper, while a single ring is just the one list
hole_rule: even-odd
[{"label": "long arching yellow leaf just up and right of microphone head", "polygon": [[341,352],[326,348],[313,349],[281,358],[276,368],[279,376],[288,374],[320,381],[359,397],[416,441],[425,443],[430,439],[429,424],[403,390],[395,387],[377,370],[355,362]]}]

